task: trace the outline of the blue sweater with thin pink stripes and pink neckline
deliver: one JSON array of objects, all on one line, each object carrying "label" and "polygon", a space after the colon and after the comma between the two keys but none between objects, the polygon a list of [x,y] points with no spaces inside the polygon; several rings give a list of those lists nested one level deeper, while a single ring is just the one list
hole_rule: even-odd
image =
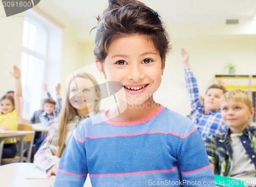
[{"label": "blue sweater with thin pink stripes and pink neckline", "polygon": [[97,187],[215,186],[202,137],[182,115],[160,105],[147,119],[115,123],[105,113],[74,130],[52,186],[83,186],[88,173]]}]

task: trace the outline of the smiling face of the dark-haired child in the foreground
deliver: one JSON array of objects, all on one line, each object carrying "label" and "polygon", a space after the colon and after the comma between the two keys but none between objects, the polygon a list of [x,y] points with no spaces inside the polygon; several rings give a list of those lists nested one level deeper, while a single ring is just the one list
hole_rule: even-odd
[{"label": "smiling face of the dark-haired child in the foreground", "polygon": [[153,99],[163,75],[161,63],[153,43],[135,34],[111,43],[102,68],[105,79],[120,82],[118,98],[130,105],[138,105]]}]

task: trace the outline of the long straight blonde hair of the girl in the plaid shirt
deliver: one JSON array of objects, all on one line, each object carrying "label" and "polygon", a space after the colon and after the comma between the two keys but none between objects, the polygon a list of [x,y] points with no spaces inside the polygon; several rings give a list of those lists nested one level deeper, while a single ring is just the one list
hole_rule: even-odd
[{"label": "long straight blonde hair of the girl in the plaid shirt", "polygon": [[[68,84],[68,91],[67,91],[67,98],[66,98],[66,102],[64,107],[62,107],[62,110],[58,116],[58,120],[57,123],[59,124],[59,140],[58,140],[58,146],[59,146],[59,151],[58,151],[58,157],[60,158],[66,145],[65,145],[65,139],[67,136],[67,125],[68,123],[70,123],[71,121],[74,120],[75,116],[78,115],[76,108],[74,108],[69,100],[69,87],[70,87],[70,83],[72,82],[72,80],[74,80],[75,78],[84,78],[84,79],[88,79],[90,81],[92,81],[94,87],[95,87],[95,91],[96,93],[98,93],[98,97],[101,98],[101,92],[100,92],[100,87],[98,85],[98,82],[96,81],[96,79],[88,73],[78,73],[76,74],[73,79],[71,79],[69,81]],[[100,106],[100,99],[95,101],[95,106],[94,106],[94,111],[95,113],[98,113],[99,111],[99,106]]]}]

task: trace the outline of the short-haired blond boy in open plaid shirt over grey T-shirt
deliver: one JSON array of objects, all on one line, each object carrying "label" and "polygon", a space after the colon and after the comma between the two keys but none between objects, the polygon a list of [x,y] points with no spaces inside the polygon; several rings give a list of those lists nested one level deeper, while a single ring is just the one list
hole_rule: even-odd
[{"label": "short-haired blond boy in open plaid shirt over grey T-shirt", "polygon": [[251,96],[241,89],[230,90],[221,98],[226,132],[209,136],[205,146],[215,174],[256,177],[256,127],[249,126],[254,114]]}]

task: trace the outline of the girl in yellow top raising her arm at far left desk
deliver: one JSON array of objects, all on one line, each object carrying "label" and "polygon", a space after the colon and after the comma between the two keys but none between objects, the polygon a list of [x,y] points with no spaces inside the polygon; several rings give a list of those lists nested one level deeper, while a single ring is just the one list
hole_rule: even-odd
[{"label": "girl in yellow top raising her arm at far left desk", "polygon": [[[18,130],[18,120],[20,118],[20,96],[22,95],[22,85],[20,82],[21,73],[15,65],[13,72],[15,78],[14,96],[5,95],[0,99],[0,130]],[[2,158],[12,158],[16,156],[16,141],[13,138],[5,141]]]}]

